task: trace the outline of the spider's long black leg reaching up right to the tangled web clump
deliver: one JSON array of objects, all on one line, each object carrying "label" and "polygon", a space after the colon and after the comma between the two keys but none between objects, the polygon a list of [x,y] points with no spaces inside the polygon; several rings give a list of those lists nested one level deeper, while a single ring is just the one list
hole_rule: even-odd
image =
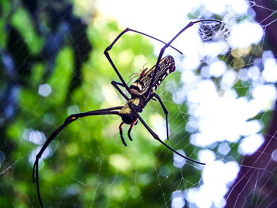
[{"label": "spider's long black leg reaching up right to the tangled web clump", "polygon": [[[161,58],[163,57],[163,53],[164,51],[170,47],[170,44],[172,44],[172,42],[179,36],[181,35],[181,33],[183,33],[184,31],[186,31],[186,29],[190,28],[191,26],[193,26],[194,24],[197,24],[199,22],[202,22],[202,21],[217,21],[218,23],[222,24],[222,22],[220,20],[217,20],[217,19],[202,19],[202,20],[198,20],[198,21],[190,21],[190,23],[185,26],[183,29],[181,29],[181,31],[179,33],[177,33],[177,35],[175,35],[175,37],[172,38],[172,40],[170,40],[170,42],[168,42],[165,46],[163,46],[163,48],[161,49],[160,53],[159,53],[159,57],[157,59],[157,63],[156,63],[156,68],[155,68],[155,71],[154,71],[154,74],[153,74],[153,77],[152,77],[152,82],[150,84],[150,87],[148,89],[148,96],[150,96],[151,94],[151,90],[152,90],[152,87],[154,85],[154,80],[156,78],[156,74],[157,74],[157,71],[159,69],[159,63],[161,62]],[[147,96],[147,97],[148,97]]]}]

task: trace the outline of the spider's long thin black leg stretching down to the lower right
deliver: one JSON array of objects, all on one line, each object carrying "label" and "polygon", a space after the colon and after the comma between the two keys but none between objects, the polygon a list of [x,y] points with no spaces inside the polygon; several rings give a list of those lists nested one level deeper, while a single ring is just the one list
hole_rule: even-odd
[{"label": "spider's long thin black leg stretching down to the lower right", "polygon": [[198,162],[194,159],[190,159],[189,157],[186,157],[184,155],[181,155],[180,153],[178,153],[176,150],[172,149],[170,146],[168,146],[166,143],[164,143],[163,141],[161,141],[161,139],[159,138],[158,135],[156,135],[155,132],[153,132],[153,130],[147,125],[147,123],[145,123],[145,121],[141,118],[141,116],[139,115],[138,112],[136,112],[135,108],[134,108],[134,104],[132,103],[129,103],[129,107],[131,108],[132,112],[134,112],[134,114],[136,114],[136,116],[138,117],[139,121],[141,121],[141,123],[144,125],[144,127],[148,130],[148,132],[150,132],[150,134],[152,135],[152,137],[154,137],[154,139],[157,139],[159,142],[161,142],[161,144],[163,144],[163,146],[166,146],[166,148],[172,150],[173,153],[176,153],[177,155],[185,158],[185,159],[188,159],[190,162],[194,162],[194,163],[197,163],[197,164],[202,164],[202,165],[205,165],[204,163],[202,162]]}]

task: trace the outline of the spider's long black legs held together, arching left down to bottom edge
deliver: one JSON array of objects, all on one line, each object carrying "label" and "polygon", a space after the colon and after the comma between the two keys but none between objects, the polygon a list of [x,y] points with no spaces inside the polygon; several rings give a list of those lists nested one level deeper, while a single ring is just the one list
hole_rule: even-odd
[{"label": "spider's long black legs held together, arching left down to bottom edge", "polygon": [[42,197],[40,196],[40,192],[39,192],[39,171],[38,171],[39,158],[42,157],[42,154],[49,146],[49,144],[51,144],[51,141],[53,141],[53,139],[55,139],[55,137],[59,135],[59,133],[66,127],[66,125],[69,125],[70,123],[72,123],[73,121],[76,121],[79,118],[86,117],[86,116],[97,116],[97,115],[111,115],[111,114],[118,115],[118,111],[114,111],[114,110],[120,110],[122,107],[123,106],[109,107],[102,110],[93,110],[93,111],[84,112],[84,113],[72,114],[71,116],[68,116],[65,119],[64,123],[59,128],[57,128],[57,130],[55,130],[55,132],[53,132],[52,135],[47,139],[47,141],[44,143],[39,153],[37,154],[35,158],[35,163],[33,166],[33,183],[37,183],[37,196],[39,198],[39,203],[42,207],[44,207],[44,205],[42,203]]}]

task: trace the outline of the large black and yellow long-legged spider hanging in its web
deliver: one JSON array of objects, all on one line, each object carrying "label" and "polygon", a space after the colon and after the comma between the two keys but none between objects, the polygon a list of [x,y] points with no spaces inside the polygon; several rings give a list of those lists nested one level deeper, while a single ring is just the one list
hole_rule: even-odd
[{"label": "large black and yellow long-legged spider hanging in its web", "polygon": [[[166,78],[166,76],[168,76],[169,73],[172,73],[173,71],[175,71],[175,60],[171,55],[168,55],[168,56],[162,58],[163,53],[168,47],[172,47],[172,46],[170,46],[170,44],[172,44],[172,42],[181,33],[186,31],[187,28],[189,28],[199,22],[203,22],[203,21],[215,21],[217,23],[222,24],[222,22],[217,19],[202,19],[202,20],[197,20],[197,21],[190,21],[190,23],[187,26],[185,26],[184,28],[182,28],[181,31],[179,31],[179,33],[177,33],[177,35],[175,35],[175,37],[173,37],[172,40],[170,40],[170,42],[168,42],[168,43],[163,42],[163,41],[157,39],[156,37],[152,37],[145,33],[141,33],[139,31],[134,31],[130,28],[126,28],[124,31],[122,31],[116,37],[114,42],[111,42],[111,44],[107,47],[107,49],[105,49],[104,54],[105,54],[107,60],[109,61],[109,63],[111,64],[111,67],[116,72],[118,78],[120,79],[120,83],[118,83],[116,81],[111,81],[111,85],[113,85],[117,89],[117,91],[127,100],[127,103],[123,106],[109,107],[109,108],[105,108],[105,109],[101,109],[101,110],[93,110],[93,111],[89,111],[89,112],[71,114],[70,116],[68,116],[65,119],[64,123],[59,128],[57,128],[57,130],[55,130],[55,132],[53,132],[52,135],[46,140],[45,144],[42,146],[42,148],[39,150],[39,153],[36,155],[35,163],[33,166],[33,183],[37,184],[37,196],[39,198],[39,203],[42,207],[44,207],[44,205],[42,203],[42,197],[39,192],[39,173],[38,173],[39,158],[42,157],[44,150],[46,150],[48,145],[51,144],[51,141],[53,141],[53,139],[55,139],[55,137],[57,137],[57,135],[66,127],[66,125],[69,125],[73,121],[76,121],[77,119],[82,118],[82,117],[96,116],[96,115],[120,116],[122,119],[122,122],[119,125],[119,132],[120,132],[121,141],[123,142],[124,146],[127,146],[127,144],[125,142],[125,139],[123,138],[122,125],[124,123],[130,125],[127,135],[128,135],[129,140],[132,141],[133,139],[131,137],[131,130],[132,130],[133,126],[136,125],[136,123],[138,123],[138,121],[141,121],[141,123],[144,125],[146,130],[148,130],[148,132],[150,132],[150,135],[152,135],[152,137],[154,137],[154,139],[157,139],[161,144],[163,144],[163,146],[166,146],[166,148],[171,150],[173,153],[179,155],[180,157],[184,157],[185,159],[188,159],[190,162],[195,162],[196,164],[205,165],[202,162],[197,162],[194,159],[190,159],[184,155],[181,155],[181,153],[178,153],[176,150],[174,150],[173,148],[168,146],[166,143],[164,143],[159,138],[159,136],[148,126],[147,123],[145,123],[145,121],[139,115],[139,113],[141,113],[143,111],[143,108],[148,104],[148,102],[150,100],[153,99],[155,101],[159,101],[159,103],[163,109],[163,112],[166,115],[166,137],[167,137],[167,139],[169,139],[168,110],[166,110],[166,106],[163,104],[163,102],[161,101],[161,98],[159,97],[158,94],[155,93],[155,91],[159,87],[159,85],[161,85],[161,82]],[[136,81],[134,81],[134,83],[132,83],[132,85],[130,85],[128,87],[127,84],[125,83],[125,80],[123,80],[123,77],[120,75],[118,69],[116,68],[116,65],[111,60],[111,57],[109,56],[109,51],[114,46],[114,44],[116,44],[116,42],[119,40],[119,38],[123,34],[129,32],[129,31],[131,31],[133,33],[139,33],[141,35],[145,35],[154,40],[162,42],[165,45],[163,46],[163,48],[161,49],[161,51],[159,53],[157,63],[151,69],[148,69],[148,68],[143,69],[143,71],[141,71],[141,73],[139,74],[139,78]],[[172,48],[175,49],[174,47],[172,47]],[[181,53],[179,50],[177,50],[177,49],[175,49],[175,50],[178,51],[179,53]],[[129,93],[129,95],[131,96],[131,98],[129,98],[120,89],[120,87],[124,87],[127,90],[127,92]]]}]

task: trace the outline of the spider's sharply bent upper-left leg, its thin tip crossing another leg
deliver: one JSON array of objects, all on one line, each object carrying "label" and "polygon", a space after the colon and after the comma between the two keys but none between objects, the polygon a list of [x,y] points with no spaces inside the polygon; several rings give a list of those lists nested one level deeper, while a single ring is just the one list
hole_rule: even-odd
[{"label": "spider's sharply bent upper-left leg, its thin tip crossing another leg", "polygon": [[[114,44],[118,41],[118,39],[119,39],[124,33],[127,33],[127,32],[129,32],[129,31],[132,31],[132,32],[134,32],[134,33],[139,33],[139,34],[145,35],[145,36],[147,36],[147,37],[151,37],[151,38],[154,39],[154,40],[157,40],[157,41],[159,41],[159,42],[162,42],[163,44],[166,44],[166,42],[163,42],[163,41],[157,39],[156,37],[152,37],[151,35],[147,35],[147,34],[145,34],[145,33],[141,33],[141,32],[139,32],[139,31],[134,31],[134,30],[132,30],[132,29],[130,29],[130,28],[126,28],[124,31],[122,31],[122,32],[116,37],[116,39],[115,39],[109,46],[107,46],[107,49],[105,49],[104,54],[106,55],[107,60],[109,60],[109,63],[111,64],[111,67],[113,67],[114,71],[116,71],[116,74],[117,74],[118,78],[120,79],[121,83],[123,84],[123,87],[125,87],[125,88],[127,89],[128,92],[129,92],[129,87],[128,87],[127,84],[125,83],[125,80],[123,79],[123,77],[120,75],[118,69],[116,68],[116,65],[115,65],[114,62],[111,60],[111,57],[109,56],[109,50],[111,50],[111,48],[114,46]],[[170,45],[169,45],[169,46],[170,46]],[[170,47],[172,47],[172,49],[175,49],[175,47],[173,47],[173,46],[170,46]],[[179,51],[178,49],[175,49],[175,50],[178,51],[179,53],[181,53],[181,51]],[[181,53],[181,54],[183,54],[183,53]]]}]

